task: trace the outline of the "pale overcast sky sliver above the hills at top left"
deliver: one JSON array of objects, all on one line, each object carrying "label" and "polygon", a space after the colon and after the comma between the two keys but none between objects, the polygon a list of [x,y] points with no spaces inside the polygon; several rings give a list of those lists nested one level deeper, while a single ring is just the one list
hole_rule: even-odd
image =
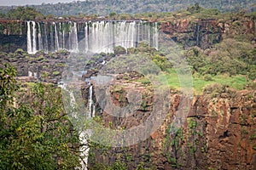
[{"label": "pale overcast sky sliver above the hills at top left", "polygon": [[42,3],[70,3],[73,0],[0,0],[0,6],[11,5],[40,5]]}]

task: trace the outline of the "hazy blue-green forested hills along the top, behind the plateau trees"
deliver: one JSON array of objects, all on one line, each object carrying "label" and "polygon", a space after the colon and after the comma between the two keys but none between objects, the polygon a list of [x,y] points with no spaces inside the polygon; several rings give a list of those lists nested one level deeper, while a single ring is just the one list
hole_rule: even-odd
[{"label": "hazy blue-green forested hills along the top, behind the plateau trees", "polygon": [[[32,5],[43,14],[53,14],[55,16],[78,15],[78,14],[96,14],[99,16],[107,15],[111,12],[118,14],[138,14],[148,12],[173,12],[180,9],[188,8],[190,4],[199,3],[204,8],[217,8],[221,12],[236,12],[246,9],[248,12],[255,11],[255,3],[253,0],[86,0],[74,1],[73,3],[43,3],[41,5]],[[6,14],[13,7],[0,7],[0,13]]]}]

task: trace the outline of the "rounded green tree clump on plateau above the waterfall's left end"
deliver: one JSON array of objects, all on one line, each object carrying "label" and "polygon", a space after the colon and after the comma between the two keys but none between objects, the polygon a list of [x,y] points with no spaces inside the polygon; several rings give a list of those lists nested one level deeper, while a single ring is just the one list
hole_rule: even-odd
[{"label": "rounded green tree clump on plateau above the waterfall's left end", "polygon": [[37,11],[36,8],[18,7],[10,9],[6,14],[9,19],[13,20],[42,20],[44,15]]}]

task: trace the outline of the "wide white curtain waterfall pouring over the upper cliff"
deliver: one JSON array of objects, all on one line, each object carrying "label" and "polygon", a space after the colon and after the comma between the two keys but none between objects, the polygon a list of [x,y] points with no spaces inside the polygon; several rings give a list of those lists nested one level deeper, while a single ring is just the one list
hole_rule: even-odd
[{"label": "wide white curtain waterfall pouring over the upper cliff", "polygon": [[73,53],[112,53],[113,48],[136,48],[147,41],[158,48],[157,23],[142,21],[27,21],[27,52],[53,52],[66,49]]}]

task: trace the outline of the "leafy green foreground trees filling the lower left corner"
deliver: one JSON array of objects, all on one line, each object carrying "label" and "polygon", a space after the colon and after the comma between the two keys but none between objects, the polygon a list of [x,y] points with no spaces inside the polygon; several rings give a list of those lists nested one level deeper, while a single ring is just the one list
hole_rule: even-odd
[{"label": "leafy green foreground trees filling the lower left corner", "polygon": [[79,167],[79,138],[63,112],[61,90],[39,83],[17,91],[15,69],[6,65],[0,73],[0,169]]}]

